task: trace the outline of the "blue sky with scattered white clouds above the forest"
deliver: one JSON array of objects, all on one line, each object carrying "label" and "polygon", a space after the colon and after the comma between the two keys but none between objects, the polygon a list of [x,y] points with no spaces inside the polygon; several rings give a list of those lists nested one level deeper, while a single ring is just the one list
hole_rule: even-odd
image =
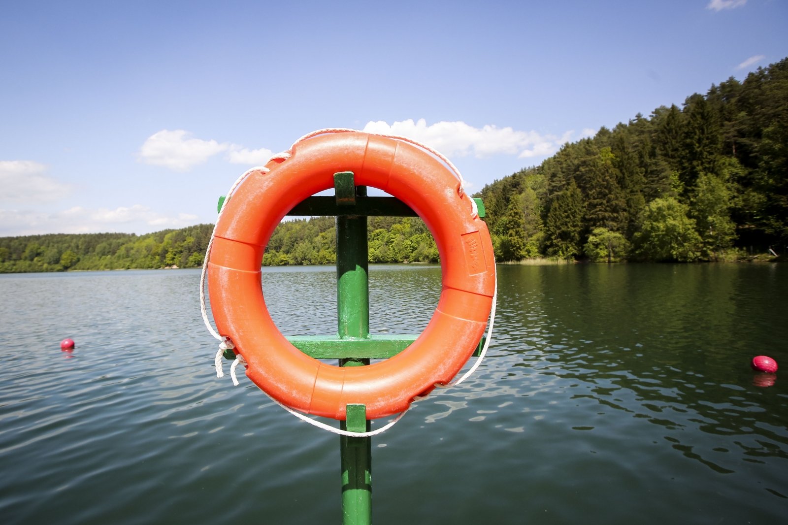
[{"label": "blue sky with scattered white clouds above the forest", "polygon": [[318,128],[395,132],[470,192],[788,56],[786,0],[0,2],[0,236],[214,222]]}]

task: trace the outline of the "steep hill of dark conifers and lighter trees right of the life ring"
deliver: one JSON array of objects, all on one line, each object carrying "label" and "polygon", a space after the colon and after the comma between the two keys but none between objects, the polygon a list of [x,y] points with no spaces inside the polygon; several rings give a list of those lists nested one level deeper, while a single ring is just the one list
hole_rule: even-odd
[{"label": "steep hill of dark conifers and lighter trees right of the life ring", "polygon": [[499,261],[734,259],[788,244],[788,58],[485,186]]}]

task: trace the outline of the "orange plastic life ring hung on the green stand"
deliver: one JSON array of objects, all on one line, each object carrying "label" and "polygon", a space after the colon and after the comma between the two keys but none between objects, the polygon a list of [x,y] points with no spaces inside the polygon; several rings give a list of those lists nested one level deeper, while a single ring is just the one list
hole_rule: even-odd
[{"label": "orange plastic life ring hung on the green stand", "polygon": [[[369,419],[396,414],[451,381],[484,333],[496,286],[487,225],[472,215],[455,174],[411,143],[362,132],[303,140],[266,167],[225,205],[208,266],[217,330],[246,360],[247,377],[291,408],[333,419],[345,419],[346,405],[355,403],[366,405]],[[335,367],[300,352],[273,324],[260,285],[273,229],[303,199],[332,188],[341,171],[407,203],[433,233],[441,261],[442,291],[426,330],[403,352],[366,367]]]}]

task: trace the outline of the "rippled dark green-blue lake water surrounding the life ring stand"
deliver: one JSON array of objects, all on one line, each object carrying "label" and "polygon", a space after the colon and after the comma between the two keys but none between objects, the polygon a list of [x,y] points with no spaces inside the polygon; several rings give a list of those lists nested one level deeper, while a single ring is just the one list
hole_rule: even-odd
[{"label": "rippled dark green-blue lake water surrounding the life ring stand", "polygon": [[[498,271],[489,358],[373,438],[375,523],[786,523],[788,266]],[[336,331],[333,266],[262,278],[283,333]],[[0,276],[2,523],[341,523],[339,438],[216,378],[198,283]],[[372,332],[439,292],[371,266]]]}]

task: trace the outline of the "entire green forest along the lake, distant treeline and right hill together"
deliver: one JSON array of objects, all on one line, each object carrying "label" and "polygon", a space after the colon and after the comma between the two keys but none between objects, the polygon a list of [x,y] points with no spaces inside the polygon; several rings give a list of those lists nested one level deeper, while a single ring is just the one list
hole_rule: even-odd
[{"label": "entire green forest along the lake, distant treeline and right hill together", "polygon": [[[499,261],[736,259],[788,244],[788,58],[637,114],[488,184]],[[195,267],[213,225],[0,238],[0,273]],[[371,263],[437,263],[419,218],[369,218]],[[333,218],[282,222],[264,265],[332,264]]]}]

